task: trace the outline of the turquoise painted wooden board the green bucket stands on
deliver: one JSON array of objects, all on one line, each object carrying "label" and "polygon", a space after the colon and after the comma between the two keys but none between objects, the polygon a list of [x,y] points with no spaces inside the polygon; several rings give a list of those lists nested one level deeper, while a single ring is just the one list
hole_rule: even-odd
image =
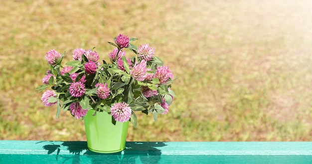
[{"label": "turquoise painted wooden board the green bucket stands on", "polygon": [[312,164],[312,142],[127,142],[99,154],[81,141],[0,141],[0,164]]}]

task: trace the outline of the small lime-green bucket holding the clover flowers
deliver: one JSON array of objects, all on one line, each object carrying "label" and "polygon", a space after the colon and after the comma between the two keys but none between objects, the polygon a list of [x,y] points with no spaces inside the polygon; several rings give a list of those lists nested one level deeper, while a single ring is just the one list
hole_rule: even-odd
[{"label": "small lime-green bucket holding the clover flowers", "polygon": [[89,110],[84,117],[88,149],[97,153],[116,153],[126,147],[129,121],[112,124],[112,116],[107,112]]}]

